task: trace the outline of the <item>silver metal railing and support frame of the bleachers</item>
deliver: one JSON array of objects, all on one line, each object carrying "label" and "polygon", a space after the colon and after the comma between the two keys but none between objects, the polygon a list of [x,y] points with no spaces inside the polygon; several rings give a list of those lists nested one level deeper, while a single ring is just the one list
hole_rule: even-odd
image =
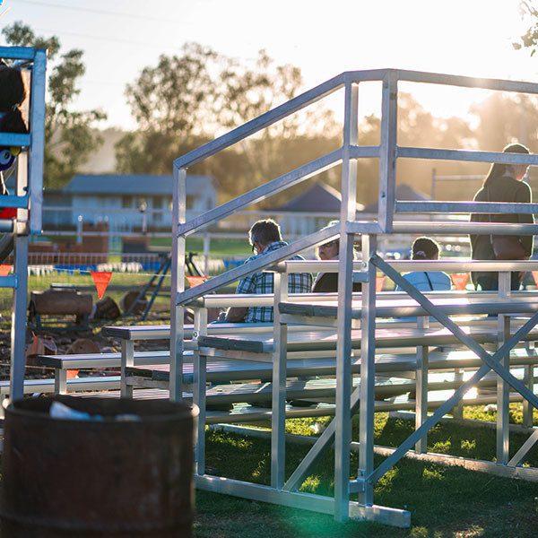
[{"label": "silver metal railing and support frame of the bleachers", "polygon": [[[360,146],[358,139],[358,116],[359,100],[358,90],[361,82],[380,81],[381,90],[381,129],[380,143],[376,146]],[[530,94],[538,94],[538,84],[532,82],[513,82],[494,79],[475,79],[468,76],[457,76],[450,74],[431,74],[423,72],[412,72],[395,69],[381,69],[369,71],[353,71],[340,74],[333,79],[320,84],[316,88],[306,91],[299,97],[290,100],[288,103],[265,113],[256,119],[247,122],[244,126],[234,129],[228,134],[224,134],[211,143],[189,152],[174,162],[174,203],[173,203],[173,266],[172,266],[172,295],[171,295],[171,367],[170,367],[170,397],[179,399],[181,392],[181,372],[183,354],[183,305],[193,299],[204,296],[222,285],[234,282],[248,273],[253,273],[278,264],[282,260],[299,253],[301,250],[316,246],[326,240],[340,237],[340,260],[338,277],[338,315],[336,318],[336,412],[334,422],[331,425],[332,433],[325,433],[317,440],[317,444],[312,448],[311,453],[306,458],[306,463],[301,464],[304,472],[308,465],[312,464],[325,447],[330,446],[334,439],[334,500],[318,499],[317,496],[310,496],[307,501],[295,490],[286,487],[284,484],[284,429],[283,417],[285,416],[285,394],[282,391],[282,379],[285,381],[285,324],[281,324],[278,312],[275,311],[274,323],[274,346],[273,355],[273,438],[272,438],[272,480],[271,489],[267,492],[256,490],[256,486],[246,482],[230,484],[228,492],[236,495],[251,496],[253,499],[265,499],[271,502],[280,502],[290,506],[305,507],[311,504],[310,509],[322,509],[330,511],[338,520],[345,520],[351,513],[361,517],[384,521],[391,525],[409,525],[409,512],[396,510],[394,508],[373,506],[373,486],[379,478],[386,473],[391,465],[395,464],[404,453],[415,443],[419,443],[427,431],[440,420],[443,413],[447,412],[447,405],[442,405],[434,417],[427,419],[424,408],[420,409],[420,427],[404,444],[395,450],[395,453],[387,458],[381,466],[374,466],[373,444],[374,444],[374,378],[375,378],[375,319],[376,319],[376,273],[381,271],[389,278],[397,282],[412,299],[415,299],[425,311],[436,317],[439,322],[445,325],[450,332],[472,349],[484,361],[472,378],[479,380],[489,369],[494,369],[499,374],[499,426],[498,438],[502,446],[499,461],[506,463],[506,447],[508,447],[508,383],[517,387],[524,398],[533,405],[536,405],[536,397],[529,393],[521,382],[513,379],[508,371],[508,366],[503,359],[511,347],[534,326],[538,315],[534,315],[530,321],[522,325],[512,337],[506,332],[506,316],[499,315],[499,324],[504,328],[499,334],[505,342],[500,350],[491,356],[478,344],[463,334],[454,322],[434,306],[429,299],[426,299],[421,292],[416,291],[409,282],[405,281],[397,273],[395,267],[405,265],[386,264],[377,256],[377,236],[394,233],[408,234],[469,234],[480,233],[505,234],[505,235],[534,235],[538,233],[536,224],[504,224],[504,223],[477,223],[467,221],[417,221],[403,220],[400,215],[408,213],[431,213],[433,216],[445,216],[447,212],[456,211],[459,213],[534,213],[538,210],[538,204],[507,204],[507,203],[456,203],[456,202],[398,202],[395,199],[395,169],[398,159],[429,159],[440,161],[467,161],[467,162],[501,162],[507,164],[527,164],[538,165],[538,155],[516,154],[502,152],[474,152],[467,150],[445,150],[437,148],[415,148],[404,147],[397,144],[397,98],[398,82],[420,82],[432,84],[444,84],[468,88],[483,88],[494,91],[517,91]],[[256,187],[249,193],[240,195],[221,207],[205,213],[191,221],[186,220],[186,191],[187,191],[187,168],[195,163],[204,161],[207,157],[224,150],[233,143],[256,134],[262,129],[273,125],[284,117],[291,115],[301,108],[324,98],[326,95],[344,88],[344,125],[343,144],[338,150],[328,153],[315,161],[311,161],[298,169],[294,169],[279,178],[273,178],[260,187]],[[363,158],[377,158],[379,160],[379,184],[378,184],[378,212],[371,220],[356,220],[356,193],[357,193],[357,161]],[[243,265],[228,273],[221,274],[213,279],[204,282],[194,289],[184,290],[184,267],[182,260],[185,256],[185,239],[188,235],[218,221],[231,213],[235,213],[248,204],[265,200],[270,195],[281,192],[287,187],[299,184],[300,181],[310,178],[324,169],[329,169],[337,164],[342,164],[342,207],[340,222],[333,227],[319,230],[316,233],[294,241],[287,247],[274,251],[266,256],[259,257],[247,265]],[[355,234],[362,235],[362,273],[364,282],[360,298],[360,308],[362,313],[361,325],[361,369],[360,388],[351,395],[351,310],[352,310],[352,273],[353,273],[353,239]],[[447,262],[429,262],[428,266],[432,270],[441,270]],[[488,265],[488,264],[486,264]],[[509,297],[509,273],[508,270],[525,265],[525,262],[514,262],[503,265],[505,271],[501,274],[501,293],[504,297]],[[477,266],[474,262],[460,263],[458,267],[472,269]],[[528,265],[533,267],[534,265]],[[482,265],[481,265],[482,267]],[[484,270],[499,271],[497,262],[488,265]],[[284,273],[285,276],[286,273]],[[508,275],[508,276],[507,276]],[[282,285],[275,275],[275,293]],[[279,277],[280,278],[280,277]],[[508,280],[507,280],[508,278]],[[276,282],[278,281],[278,282]],[[284,279],[284,282],[285,279]],[[427,351],[426,351],[427,352]],[[201,363],[199,363],[201,364]],[[426,364],[424,367],[423,364]],[[424,368],[426,370],[424,370]],[[421,362],[421,370],[417,375],[423,377],[427,372],[427,361]],[[465,382],[465,387],[469,386],[469,381]],[[456,395],[451,399],[453,405],[458,398],[463,395],[463,389],[458,389]],[[351,442],[351,409],[360,407],[360,464],[358,470],[359,478],[350,482],[350,442]],[[419,408],[418,408],[419,409]],[[532,443],[531,443],[532,446]],[[528,448],[527,448],[528,449]],[[518,453],[519,455],[519,453]],[[219,484],[214,484],[211,477],[205,480],[204,476],[197,477],[199,484],[204,484],[208,489],[218,490]],[[350,501],[351,491],[359,494],[359,502]],[[323,508],[322,508],[323,505]],[[307,507],[308,508],[308,507]]]}]

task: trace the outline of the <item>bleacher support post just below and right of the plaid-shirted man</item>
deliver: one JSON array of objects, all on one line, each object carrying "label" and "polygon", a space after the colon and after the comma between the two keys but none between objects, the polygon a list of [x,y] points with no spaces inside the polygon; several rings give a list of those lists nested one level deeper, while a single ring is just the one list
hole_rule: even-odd
[{"label": "bleacher support post just below and right of the plaid-shirted man", "polygon": [[286,467],[286,362],[288,325],[282,324],[278,303],[288,299],[288,273],[274,273],[273,414],[271,417],[271,486],[282,490]]}]

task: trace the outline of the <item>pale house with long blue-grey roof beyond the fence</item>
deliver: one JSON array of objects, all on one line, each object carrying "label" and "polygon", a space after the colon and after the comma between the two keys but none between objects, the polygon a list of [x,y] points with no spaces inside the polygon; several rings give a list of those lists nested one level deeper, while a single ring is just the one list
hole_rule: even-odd
[{"label": "pale house with long blue-grey roof beyond the fence", "polygon": [[[213,209],[214,179],[187,176],[187,218]],[[71,199],[71,222],[108,220],[110,229],[132,230],[171,226],[172,176],[144,174],[80,174],[65,186]],[[189,214],[190,213],[190,214]]]}]

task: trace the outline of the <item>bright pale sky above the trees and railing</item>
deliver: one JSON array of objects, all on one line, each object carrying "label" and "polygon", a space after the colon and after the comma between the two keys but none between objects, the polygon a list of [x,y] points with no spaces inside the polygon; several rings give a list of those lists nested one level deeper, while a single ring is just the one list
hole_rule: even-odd
[{"label": "bright pale sky above the trees and railing", "polygon": [[[252,60],[264,48],[301,68],[304,90],[343,71],[395,67],[536,81],[538,56],[511,43],[525,30],[518,0],[4,0],[14,21],[82,48],[86,74],[74,108],[102,108],[105,126],[134,128],[126,83],[187,41]],[[0,43],[3,39],[0,38]],[[405,88],[407,90],[407,88]],[[479,90],[414,85],[438,116],[465,116]],[[368,101],[371,99],[371,103]],[[363,101],[361,101],[362,103]],[[374,90],[362,114],[375,111]],[[340,104],[330,101],[331,108]]]}]

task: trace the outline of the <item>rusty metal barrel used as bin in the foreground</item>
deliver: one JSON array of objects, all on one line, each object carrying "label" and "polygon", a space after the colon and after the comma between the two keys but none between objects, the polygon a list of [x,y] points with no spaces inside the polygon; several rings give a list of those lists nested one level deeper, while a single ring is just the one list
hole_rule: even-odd
[{"label": "rusty metal barrel used as bin in the foreground", "polygon": [[[54,401],[99,421],[49,415]],[[2,536],[190,537],[197,408],[26,398],[5,413]]]}]

